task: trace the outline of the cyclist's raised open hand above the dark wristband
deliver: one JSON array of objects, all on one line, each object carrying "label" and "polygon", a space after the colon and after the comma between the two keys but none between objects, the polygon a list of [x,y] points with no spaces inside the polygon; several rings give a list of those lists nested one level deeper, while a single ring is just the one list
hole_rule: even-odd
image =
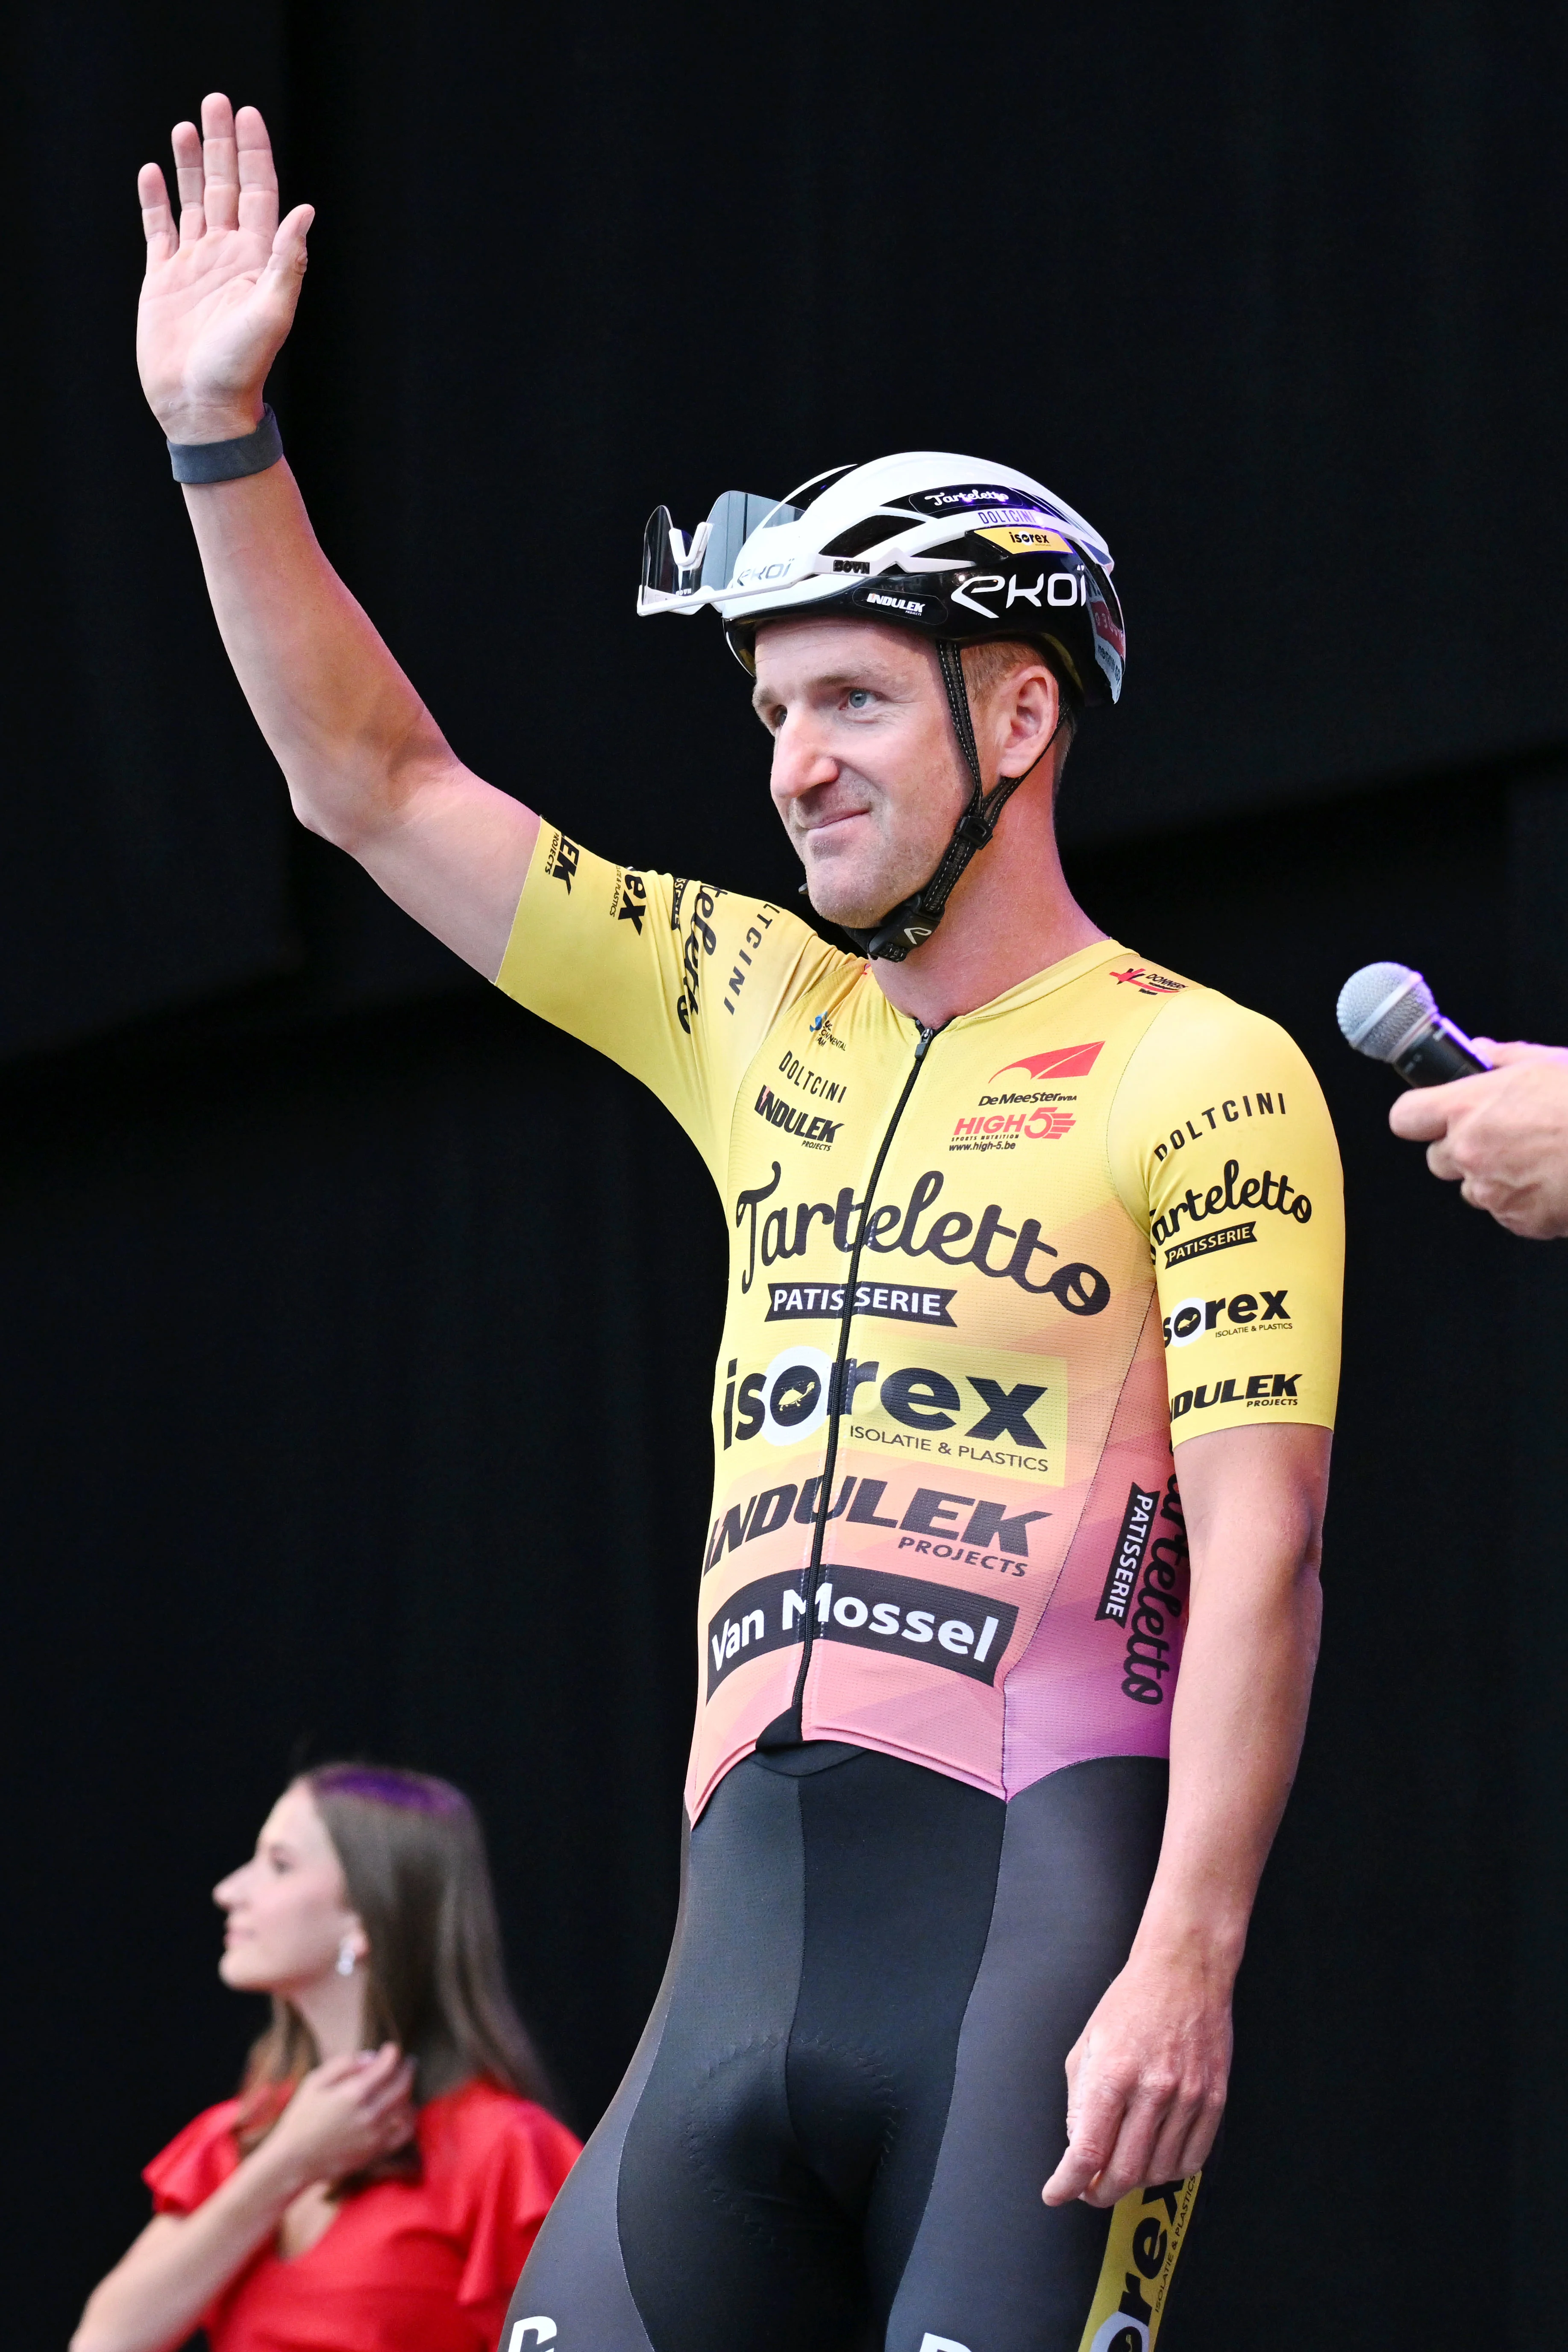
[{"label": "cyclist's raised open hand above the dark wristband", "polygon": [[136,315],[141,390],[169,440],[235,440],[261,423],[261,388],[294,325],[310,205],[277,221],[277,172],[254,106],[202,99],[174,125],[179,228],[155,162],[136,174],[148,270]]}]

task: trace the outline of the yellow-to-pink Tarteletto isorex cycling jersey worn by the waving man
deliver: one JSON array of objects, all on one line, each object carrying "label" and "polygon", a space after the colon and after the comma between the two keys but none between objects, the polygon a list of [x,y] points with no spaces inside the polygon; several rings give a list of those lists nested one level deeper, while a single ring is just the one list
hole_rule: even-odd
[{"label": "yellow-to-pink Tarteletto isorex cycling jersey worn by the waving man", "polygon": [[1340,1160],[1291,1037],[1112,941],[929,1033],[783,908],[548,826],[498,985],[724,1202],[691,1818],[778,1724],[999,1797],[1164,1755],[1173,1442],[1333,1425]]}]

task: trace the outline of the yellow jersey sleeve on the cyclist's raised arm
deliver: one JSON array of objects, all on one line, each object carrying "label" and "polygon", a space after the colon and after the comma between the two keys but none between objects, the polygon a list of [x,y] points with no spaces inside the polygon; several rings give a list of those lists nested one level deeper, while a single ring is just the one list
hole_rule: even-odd
[{"label": "yellow jersey sleeve on the cyclist's raised arm", "polygon": [[851,962],[764,898],[609,866],[541,826],[496,985],[651,1087],[719,1181],[766,1030]]}]

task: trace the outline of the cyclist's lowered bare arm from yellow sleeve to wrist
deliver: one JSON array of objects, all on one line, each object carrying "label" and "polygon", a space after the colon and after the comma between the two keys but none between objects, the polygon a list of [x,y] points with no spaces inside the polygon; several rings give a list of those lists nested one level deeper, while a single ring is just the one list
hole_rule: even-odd
[{"label": "cyclist's lowered bare arm from yellow sleeve to wrist", "polygon": [[1194,1541],[1192,1618],[1171,1712],[1171,1799],[1138,1950],[1187,1955],[1229,1983],[1316,1665],[1316,1531],[1241,1510]]}]

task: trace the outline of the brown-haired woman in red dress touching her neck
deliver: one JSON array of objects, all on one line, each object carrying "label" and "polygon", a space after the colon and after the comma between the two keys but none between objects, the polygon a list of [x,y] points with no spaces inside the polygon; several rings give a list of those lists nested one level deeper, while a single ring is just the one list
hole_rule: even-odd
[{"label": "brown-haired woman in red dress touching her neck", "polygon": [[505,1992],[468,1799],[329,1764],[223,1879],[221,1978],[270,1992],[240,2098],[146,2169],[155,2218],[71,2352],[491,2352],[578,2143]]}]

